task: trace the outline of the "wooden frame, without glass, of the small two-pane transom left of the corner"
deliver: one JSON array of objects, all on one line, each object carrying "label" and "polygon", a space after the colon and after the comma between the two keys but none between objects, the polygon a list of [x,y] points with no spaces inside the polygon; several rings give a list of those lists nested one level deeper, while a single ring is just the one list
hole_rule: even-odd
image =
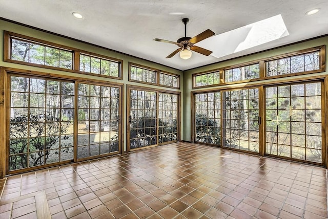
[{"label": "wooden frame, without glass, of the small two-pane transom left of the corner", "polygon": [[[131,67],[136,67],[136,68],[140,68],[140,69],[154,71],[155,72],[155,83],[150,83],[150,82],[146,82],[146,81],[139,81],[139,80],[131,79]],[[171,75],[171,76],[177,77],[177,87],[160,84],[159,83],[159,74],[166,74],[166,75]],[[137,63],[133,63],[133,62],[129,62],[129,79],[128,80],[132,81],[132,82],[137,82],[137,83],[144,83],[144,84],[150,84],[150,85],[156,85],[156,86],[162,86],[162,87],[169,87],[169,88],[177,89],[177,90],[180,89],[180,75],[165,72],[165,71],[161,71],[161,70],[155,69],[155,68],[150,68],[150,67],[147,67],[145,65],[141,65],[141,64],[137,64]]]}]

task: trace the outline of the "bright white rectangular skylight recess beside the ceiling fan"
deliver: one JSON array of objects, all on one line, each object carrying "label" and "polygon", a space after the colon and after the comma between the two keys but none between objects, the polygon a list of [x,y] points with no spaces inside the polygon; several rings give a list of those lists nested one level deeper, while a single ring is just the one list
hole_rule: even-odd
[{"label": "bright white rectangular skylight recess beside the ceiling fan", "polygon": [[213,51],[211,55],[220,58],[288,35],[289,32],[279,14],[212,36],[199,42],[197,46],[211,48]]}]

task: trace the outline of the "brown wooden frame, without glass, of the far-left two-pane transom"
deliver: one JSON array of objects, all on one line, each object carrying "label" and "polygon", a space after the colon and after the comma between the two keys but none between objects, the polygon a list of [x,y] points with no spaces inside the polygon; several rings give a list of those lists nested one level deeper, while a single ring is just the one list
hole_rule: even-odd
[{"label": "brown wooden frame, without glass, of the far-left two-pane transom", "polygon": [[[19,61],[19,60],[11,59],[11,38],[18,38],[18,39],[22,39],[24,41],[36,43],[38,45],[42,45],[42,46],[46,46],[46,47],[50,47],[50,48],[56,48],[56,49],[59,49],[59,50],[65,50],[65,51],[72,52],[72,69],[65,69],[65,68],[59,68],[59,67],[44,65],[44,64],[36,64],[36,63],[30,63],[30,62],[26,62],[26,61]],[[118,73],[119,77],[113,77],[113,76],[108,76],[108,75],[101,75],[101,74],[95,74],[95,73],[88,73],[88,72],[80,71],[80,69],[79,69],[80,53],[85,54],[87,56],[91,56],[91,57],[96,57],[96,58],[100,58],[100,59],[106,59],[106,60],[109,60],[109,61],[118,62],[118,64],[119,64],[119,73]],[[30,65],[30,66],[44,68],[44,69],[53,69],[53,70],[59,70],[59,71],[65,71],[65,72],[79,73],[79,74],[84,74],[84,75],[92,75],[92,76],[98,76],[98,77],[104,77],[104,78],[112,78],[112,79],[123,80],[123,60],[121,60],[121,59],[111,58],[111,57],[108,57],[108,56],[103,56],[103,55],[100,55],[100,54],[95,54],[95,53],[92,53],[92,52],[87,52],[87,51],[79,50],[79,49],[76,49],[76,48],[67,47],[67,46],[60,45],[60,44],[57,44],[57,43],[54,43],[54,42],[49,42],[49,41],[45,41],[45,40],[42,40],[42,39],[37,39],[37,38],[34,38],[34,37],[29,37],[29,36],[25,36],[25,35],[22,35],[22,34],[9,32],[9,31],[4,31],[4,61],[5,62],[16,63],[16,64]]]}]

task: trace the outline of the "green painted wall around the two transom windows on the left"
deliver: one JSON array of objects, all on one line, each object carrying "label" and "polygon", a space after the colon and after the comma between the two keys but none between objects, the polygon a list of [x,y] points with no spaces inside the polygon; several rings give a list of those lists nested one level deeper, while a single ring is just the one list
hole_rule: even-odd
[{"label": "green painted wall around the two transom windows on the left", "polygon": [[[38,68],[38,67],[31,67],[29,65],[24,65],[24,64],[15,64],[15,63],[10,63],[10,62],[4,62],[4,31],[10,31],[10,32],[22,34],[22,35],[25,35],[25,36],[34,37],[34,38],[46,40],[46,41],[49,41],[49,42],[54,42],[54,43],[57,43],[59,45],[64,45],[64,46],[76,48],[76,49],[79,49],[79,50],[84,50],[84,51],[88,51],[88,52],[92,52],[92,53],[96,53],[96,54],[100,54],[100,55],[104,55],[104,56],[108,56],[108,57],[112,57],[112,58],[121,59],[121,60],[123,60],[123,72],[122,72],[123,80],[115,80],[115,79],[109,79],[109,78],[104,78],[104,77],[89,76],[89,75],[76,74],[76,73],[71,73],[71,72],[44,69],[44,68]],[[99,47],[96,47],[96,46],[88,45],[87,43],[71,40],[71,39],[68,39],[68,38],[65,38],[65,37],[60,37],[60,36],[50,34],[50,33],[46,33],[46,32],[42,32],[42,31],[38,31],[38,30],[28,28],[28,27],[25,27],[25,26],[13,24],[11,22],[1,20],[1,19],[0,19],[0,34],[1,34],[1,37],[0,37],[0,56],[1,56],[1,58],[0,58],[0,67],[10,67],[10,68],[15,68],[15,69],[23,69],[23,70],[44,72],[45,74],[46,73],[59,74],[59,75],[64,74],[64,75],[75,76],[75,77],[84,77],[84,78],[89,78],[89,79],[103,80],[104,82],[113,81],[113,82],[117,82],[117,83],[124,83],[124,105],[123,105],[124,116],[123,116],[123,118],[126,118],[127,84],[138,85],[138,86],[147,86],[147,87],[152,87],[152,88],[155,88],[155,89],[160,88],[160,89],[166,89],[166,90],[170,90],[170,91],[178,91],[178,92],[181,92],[181,94],[182,94],[182,90],[183,90],[183,84],[182,84],[183,74],[182,74],[182,71],[172,69],[172,68],[166,67],[166,66],[161,65],[161,64],[157,64],[157,63],[147,61],[147,60],[144,60],[144,59],[139,59],[139,58],[132,57],[132,56],[129,56],[129,55],[117,53],[117,52],[107,50],[107,49],[103,49],[103,48],[99,48]],[[137,63],[137,64],[145,65],[147,67],[159,69],[161,71],[166,71],[166,72],[170,72],[170,73],[180,75],[180,80],[181,80],[180,89],[179,90],[170,89],[170,88],[166,88],[166,87],[158,87],[158,86],[155,86],[155,85],[148,85],[148,84],[142,84],[142,83],[136,83],[136,82],[128,81],[129,62],[134,62],[134,63]],[[183,101],[183,97],[181,95],[181,107],[182,107],[182,101]],[[182,114],[181,114],[181,118],[183,118]],[[125,151],[126,150],[126,120],[124,120],[122,122],[124,124],[124,130],[123,130],[123,133],[124,133],[124,138],[123,138],[124,139],[124,149],[123,150]],[[183,130],[183,128],[181,127],[181,134],[182,134],[182,130]]]}]

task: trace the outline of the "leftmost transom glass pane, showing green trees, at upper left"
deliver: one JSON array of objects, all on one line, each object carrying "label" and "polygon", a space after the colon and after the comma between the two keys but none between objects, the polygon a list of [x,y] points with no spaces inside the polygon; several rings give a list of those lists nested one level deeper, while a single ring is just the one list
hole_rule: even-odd
[{"label": "leftmost transom glass pane, showing green trees, at upper left", "polygon": [[56,68],[72,69],[73,52],[11,37],[10,58]]}]

